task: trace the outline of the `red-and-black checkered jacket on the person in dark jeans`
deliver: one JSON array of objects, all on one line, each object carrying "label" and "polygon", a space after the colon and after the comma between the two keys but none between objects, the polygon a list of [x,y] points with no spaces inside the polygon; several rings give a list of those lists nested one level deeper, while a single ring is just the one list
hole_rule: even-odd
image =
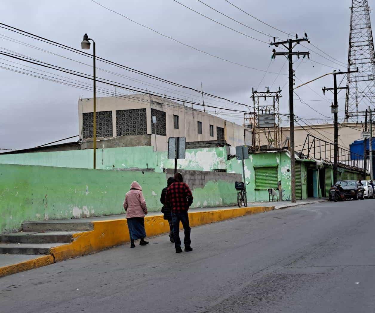
[{"label": "red-and-black checkered jacket on the person in dark jeans", "polygon": [[172,212],[184,212],[193,202],[193,194],[187,184],[174,182],[166,191],[165,203],[168,203]]}]

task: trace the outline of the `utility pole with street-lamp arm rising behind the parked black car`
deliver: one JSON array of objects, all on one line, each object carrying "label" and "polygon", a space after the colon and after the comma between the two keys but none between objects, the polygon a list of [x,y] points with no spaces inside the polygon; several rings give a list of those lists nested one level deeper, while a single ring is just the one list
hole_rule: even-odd
[{"label": "utility pole with street-lamp arm rising behind the parked black car", "polygon": [[349,71],[349,72],[336,72],[334,71],[333,73],[333,88],[326,88],[325,86],[322,88],[323,94],[326,93],[327,90],[333,90],[333,105],[331,105],[331,112],[334,114],[334,126],[335,126],[335,135],[334,135],[334,149],[333,149],[333,184],[336,184],[337,182],[337,164],[338,164],[338,153],[339,153],[339,127],[338,127],[338,122],[337,122],[337,114],[339,111],[339,104],[337,102],[337,94],[338,90],[341,89],[348,89],[348,86],[345,87],[337,87],[337,79],[336,75],[341,75],[341,74],[348,74],[348,73],[353,73],[353,72],[358,72],[358,69],[356,71]]}]

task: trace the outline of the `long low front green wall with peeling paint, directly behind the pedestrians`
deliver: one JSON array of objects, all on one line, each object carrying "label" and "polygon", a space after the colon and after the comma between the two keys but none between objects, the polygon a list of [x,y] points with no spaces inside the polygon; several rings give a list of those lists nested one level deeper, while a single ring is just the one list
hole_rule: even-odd
[{"label": "long low front green wall with peeling paint, directly behind the pedestrians", "polygon": [[[165,173],[0,164],[0,233],[19,230],[24,221],[124,213],[132,181],[142,186],[149,211],[159,211]],[[192,208],[235,205],[233,186],[217,180],[193,189]]]}]

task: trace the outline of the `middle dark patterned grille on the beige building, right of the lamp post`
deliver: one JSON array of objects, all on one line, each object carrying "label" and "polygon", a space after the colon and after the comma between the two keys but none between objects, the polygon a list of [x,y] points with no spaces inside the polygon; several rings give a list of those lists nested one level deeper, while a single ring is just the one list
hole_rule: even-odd
[{"label": "middle dark patterned grille on the beige building, right of the lamp post", "polygon": [[117,136],[147,134],[146,109],[116,110]]}]

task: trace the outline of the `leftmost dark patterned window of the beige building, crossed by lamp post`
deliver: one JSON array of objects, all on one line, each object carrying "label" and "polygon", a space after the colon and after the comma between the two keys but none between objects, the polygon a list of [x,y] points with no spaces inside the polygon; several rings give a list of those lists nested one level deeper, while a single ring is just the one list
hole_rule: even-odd
[{"label": "leftmost dark patterned window of the beige building, crossed by lamp post", "polygon": [[[94,113],[82,114],[83,138],[94,137]],[[96,137],[113,137],[112,111],[96,112]]]}]

